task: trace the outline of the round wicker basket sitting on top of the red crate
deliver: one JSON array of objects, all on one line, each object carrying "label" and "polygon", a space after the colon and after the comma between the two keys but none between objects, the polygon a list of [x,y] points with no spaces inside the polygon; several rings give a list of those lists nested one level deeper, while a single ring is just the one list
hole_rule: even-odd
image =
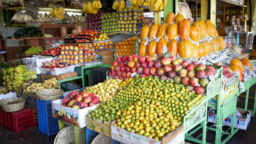
[{"label": "round wicker basket sitting on top of the red crate", "polygon": [[[8,102],[17,101],[19,100],[20,103],[18,104],[12,104],[12,105],[5,105]],[[5,112],[15,112],[18,110],[21,110],[24,108],[26,102],[26,98],[23,97],[11,97],[11,98],[5,98],[0,101],[0,106]]]}]

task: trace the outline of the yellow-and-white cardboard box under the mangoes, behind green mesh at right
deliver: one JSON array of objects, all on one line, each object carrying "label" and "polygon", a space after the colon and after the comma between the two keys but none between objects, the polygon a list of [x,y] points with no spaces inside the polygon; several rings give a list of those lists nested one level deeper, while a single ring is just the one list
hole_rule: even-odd
[{"label": "yellow-and-white cardboard box under the mangoes, behind green mesh at right", "polygon": [[[221,89],[221,105],[223,103],[223,100],[234,93],[237,92],[237,76],[231,76],[227,78],[227,81],[225,84],[222,84],[222,89]],[[217,104],[218,103],[218,95],[210,98],[208,100],[208,103],[211,104]]]}]

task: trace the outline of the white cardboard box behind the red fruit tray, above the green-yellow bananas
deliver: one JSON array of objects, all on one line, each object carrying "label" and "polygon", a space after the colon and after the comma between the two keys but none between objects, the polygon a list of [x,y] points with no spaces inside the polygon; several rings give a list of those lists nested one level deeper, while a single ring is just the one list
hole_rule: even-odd
[{"label": "white cardboard box behind the red fruit tray, above the green-yellow bananas", "polygon": [[46,61],[49,62],[51,60],[52,60],[52,57],[45,57],[45,58],[42,58],[42,59],[31,57],[31,58],[24,58],[23,63],[27,67],[42,67],[42,65]]}]

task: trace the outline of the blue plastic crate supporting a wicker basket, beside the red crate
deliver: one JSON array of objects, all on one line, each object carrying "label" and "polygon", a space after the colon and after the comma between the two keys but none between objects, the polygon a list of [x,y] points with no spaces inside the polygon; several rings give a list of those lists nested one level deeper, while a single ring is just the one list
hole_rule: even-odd
[{"label": "blue plastic crate supporting a wicker basket, beside the red crate", "polygon": [[50,136],[59,132],[59,122],[52,115],[51,101],[37,99],[39,131]]}]

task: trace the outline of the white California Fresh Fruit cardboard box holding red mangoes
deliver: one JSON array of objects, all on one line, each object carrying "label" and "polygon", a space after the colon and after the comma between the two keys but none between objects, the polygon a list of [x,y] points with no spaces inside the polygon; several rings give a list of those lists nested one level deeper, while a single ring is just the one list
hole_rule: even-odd
[{"label": "white California Fresh Fruit cardboard box holding red mangoes", "polygon": [[100,103],[101,102],[90,107],[76,109],[61,105],[62,99],[57,99],[51,102],[52,112],[55,118],[78,126],[80,128],[86,127],[86,115],[89,113],[89,110],[94,110]]}]

